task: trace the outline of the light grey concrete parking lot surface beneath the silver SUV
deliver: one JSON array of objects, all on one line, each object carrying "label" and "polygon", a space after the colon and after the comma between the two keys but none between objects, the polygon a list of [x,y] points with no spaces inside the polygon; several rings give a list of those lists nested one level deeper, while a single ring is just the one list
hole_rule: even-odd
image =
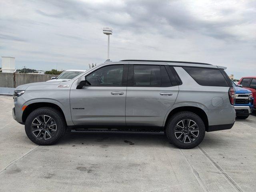
[{"label": "light grey concrete parking lot surface beneath the silver SUV", "polygon": [[66,133],[31,142],[0,96],[0,191],[254,192],[256,116],[180,150],[162,135]]}]

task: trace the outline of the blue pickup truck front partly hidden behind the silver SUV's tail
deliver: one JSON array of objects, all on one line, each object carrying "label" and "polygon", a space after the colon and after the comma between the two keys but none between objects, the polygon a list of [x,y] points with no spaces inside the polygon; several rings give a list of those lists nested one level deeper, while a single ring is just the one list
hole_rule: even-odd
[{"label": "blue pickup truck front partly hidden behind the silver SUV's tail", "polygon": [[236,91],[235,110],[236,117],[239,119],[246,119],[252,112],[253,97],[252,92],[248,89],[240,87],[233,82],[233,87]]}]

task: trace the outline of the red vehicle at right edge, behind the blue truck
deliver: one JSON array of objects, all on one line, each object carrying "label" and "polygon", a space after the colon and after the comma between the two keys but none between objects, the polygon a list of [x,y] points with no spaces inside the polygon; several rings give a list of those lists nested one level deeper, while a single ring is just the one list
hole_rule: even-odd
[{"label": "red vehicle at right edge, behind the blue truck", "polygon": [[252,92],[254,98],[253,109],[256,111],[256,76],[254,77],[242,77],[238,82],[238,85],[242,85],[243,88],[249,89]]}]

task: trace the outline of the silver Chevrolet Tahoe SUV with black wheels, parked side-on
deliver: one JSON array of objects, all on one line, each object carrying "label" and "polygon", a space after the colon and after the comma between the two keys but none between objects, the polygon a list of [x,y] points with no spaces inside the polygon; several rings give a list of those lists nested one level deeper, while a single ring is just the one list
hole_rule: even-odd
[{"label": "silver Chevrolet Tahoe SUV with black wheels, parked side-on", "polygon": [[74,79],[18,86],[13,118],[32,142],[50,145],[72,132],[166,134],[194,148],[232,128],[234,88],[225,67],[206,63],[105,62]]}]

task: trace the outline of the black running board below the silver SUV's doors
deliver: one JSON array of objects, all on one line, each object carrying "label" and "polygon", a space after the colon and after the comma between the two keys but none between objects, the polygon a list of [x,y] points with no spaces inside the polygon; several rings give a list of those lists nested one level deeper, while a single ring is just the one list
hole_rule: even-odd
[{"label": "black running board below the silver SUV's doors", "polygon": [[163,135],[164,131],[145,131],[145,130],[107,130],[107,129],[71,129],[71,132],[79,133],[128,133],[128,134],[152,134]]}]

